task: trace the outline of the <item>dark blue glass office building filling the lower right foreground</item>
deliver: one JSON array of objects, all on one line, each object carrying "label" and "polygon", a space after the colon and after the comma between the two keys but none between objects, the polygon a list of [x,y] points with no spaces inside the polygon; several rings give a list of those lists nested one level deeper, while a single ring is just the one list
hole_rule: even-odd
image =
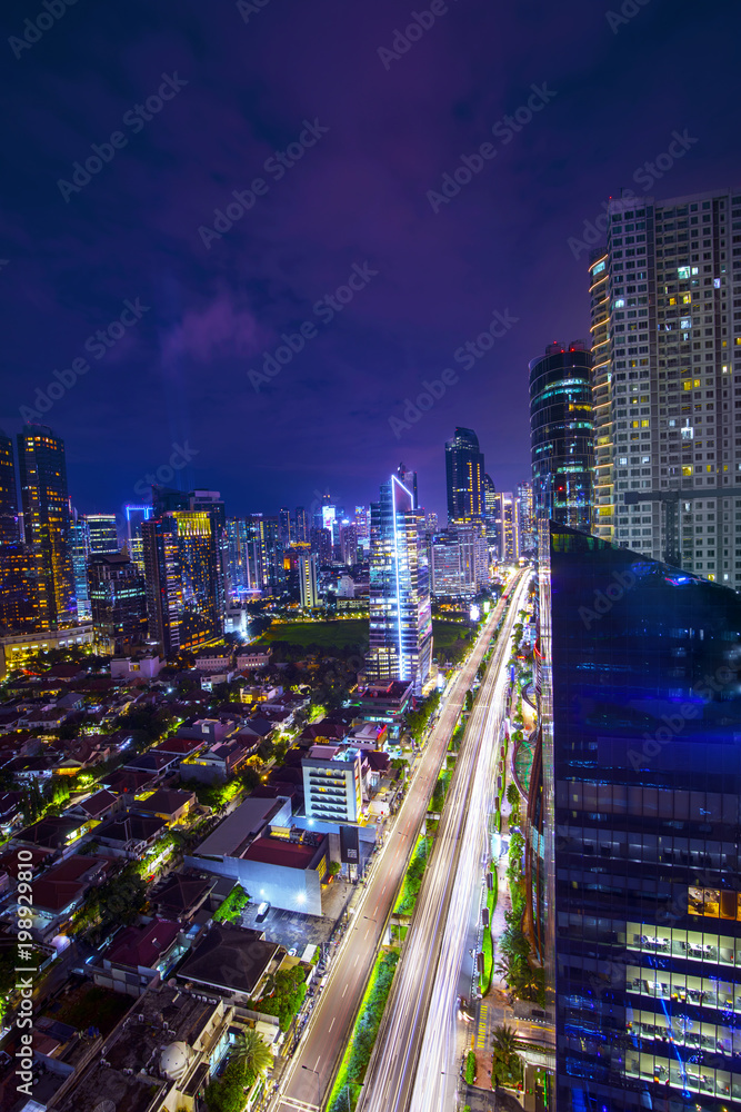
[{"label": "dark blue glass office building filling the lower right foreground", "polygon": [[554,1104],[741,1108],[741,599],[564,526],[542,536],[525,825]]}]

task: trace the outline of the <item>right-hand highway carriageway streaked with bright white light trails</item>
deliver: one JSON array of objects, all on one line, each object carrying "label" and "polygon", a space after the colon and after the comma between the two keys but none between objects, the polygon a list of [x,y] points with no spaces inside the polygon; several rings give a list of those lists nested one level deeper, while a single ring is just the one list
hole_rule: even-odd
[{"label": "right-hand highway carriageway streaked with bright white light trails", "polygon": [[511,632],[529,579],[525,573],[513,589],[471,712],[358,1105],[362,1112],[442,1112],[454,1106],[455,995],[473,888],[481,883],[488,853]]}]

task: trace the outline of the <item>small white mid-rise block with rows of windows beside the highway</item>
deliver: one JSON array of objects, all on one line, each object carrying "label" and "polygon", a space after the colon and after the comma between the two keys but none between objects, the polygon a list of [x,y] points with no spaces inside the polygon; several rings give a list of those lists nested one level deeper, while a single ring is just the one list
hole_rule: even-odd
[{"label": "small white mid-rise block with rows of windows beside the highway", "polygon": [[307,818],[357,823],[362,812],[360,752],[313,745],[301,761]]}]

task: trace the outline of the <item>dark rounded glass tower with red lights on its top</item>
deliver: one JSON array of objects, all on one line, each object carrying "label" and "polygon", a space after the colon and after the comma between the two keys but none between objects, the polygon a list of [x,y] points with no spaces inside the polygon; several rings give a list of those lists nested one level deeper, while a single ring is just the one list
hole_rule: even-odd
[{"label": "dark rounded glass tower with red lights on its top", "polygon": [[537,517],[589,533],[594,425],[591,355],[581,340],[549,344],[530,363],[530,445]]}]

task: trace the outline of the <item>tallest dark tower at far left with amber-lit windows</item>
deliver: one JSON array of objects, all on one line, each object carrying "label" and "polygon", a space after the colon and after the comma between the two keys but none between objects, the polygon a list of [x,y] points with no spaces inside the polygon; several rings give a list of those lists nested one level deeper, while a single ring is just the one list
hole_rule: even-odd
[{"label": "tallest dark tower at far left with amber-lit windows", "polygon": [[43,577],[40,627],[56,628],[77,617],[64,441],[47,425],[27,425],[18,434],[18,471],[26,543],[40,555]]}]

